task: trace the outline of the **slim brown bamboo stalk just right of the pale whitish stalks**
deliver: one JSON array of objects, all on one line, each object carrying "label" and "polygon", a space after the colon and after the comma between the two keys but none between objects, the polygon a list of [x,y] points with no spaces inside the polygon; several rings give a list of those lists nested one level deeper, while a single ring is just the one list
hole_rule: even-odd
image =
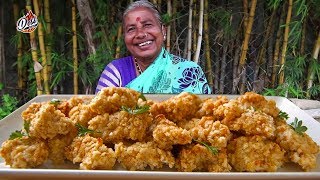
[{"label": "slim brown bamboo stalk just right of the pale whitish stalks", "polygon": [[209,39],[209,19],[208,19],[208,0],[204,1],[204,44],[205,44],[205,55],[206,55],[206,69],[208,84],[213,89],[213,76],[212,76],[212,64],[211,64],[211,53],[210,53],[210,39]]}]

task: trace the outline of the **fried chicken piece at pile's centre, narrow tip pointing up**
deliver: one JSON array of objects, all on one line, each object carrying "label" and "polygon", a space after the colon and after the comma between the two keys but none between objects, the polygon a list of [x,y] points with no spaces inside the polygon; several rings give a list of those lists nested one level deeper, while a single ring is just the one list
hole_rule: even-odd
[{"label": "fried chicken piece at pile's centre, narrow tip pointing up", "polygon": [[153,129],[154,142],[159,148],[171,150],[172,145],[189,144],[192,141],[190,132],[178,127],[174,122],[166,119],[160,114],[156,117],[157,125]]}]

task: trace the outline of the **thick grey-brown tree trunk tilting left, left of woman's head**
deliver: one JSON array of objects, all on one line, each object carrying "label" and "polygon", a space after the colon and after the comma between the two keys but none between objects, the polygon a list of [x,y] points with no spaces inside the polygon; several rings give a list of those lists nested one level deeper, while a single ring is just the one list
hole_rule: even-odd
[{"label": "thick grey-brown tree trunk tilting left, left of woman's head", "polygon": [[89,54],[96,54],[96,46],[93,40],[95,24],[88,0],[77,0],[77,8],[80,14],[80,24],[85,34],[87,50]]}]

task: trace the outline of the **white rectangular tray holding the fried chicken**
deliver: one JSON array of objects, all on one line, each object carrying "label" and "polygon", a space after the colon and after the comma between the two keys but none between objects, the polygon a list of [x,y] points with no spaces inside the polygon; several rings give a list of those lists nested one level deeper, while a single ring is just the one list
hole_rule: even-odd
[{"label": "white rectangular tray holding the fried chicken", "polygon": [[[74,95],[41,95],[33,98],[16,111],[11,113],[0,121],[0,144],[7,140],[15,130],[23,127],[21,113],[32,102],[50,101],[51,99],[69,99]],[[78,95],[88,96],[88,95]],[[89,95],[93,96],[93,95]],[[147,98],[154,100],[165,100],[172,95],[146,95]],[[214,98],[218,95],[200,95],[202,98]],[[229,99],[238,97],[238,95],[225,95]],[[277,107],[289,114],[288,123],[292,122],[295,117],[303,121],[303,125],[308,127],[307,134],[320,145],[320,123],[305,113],[291,101],[284,97],[268,96],[267,99],[273,99],[277,103]],[[52,167],[42,166],[38,169],[12,169],[4,164],[4,160],[0,157],[0,179],[50,179],[50,178],[68,178],[68,179],[320,179],[320,158],[317,159],[317,168],[310,172],[303,172],[294,164],[288,164],[279,169],[278,172],[228,172],[228,173],[212,173],[212,172],[173,172],[170,169],[161,171],[126,171],[121,168],[118,170],[78,170],[69,169],[72,166]],[[67,168],[67,169],[66,169]]]}]

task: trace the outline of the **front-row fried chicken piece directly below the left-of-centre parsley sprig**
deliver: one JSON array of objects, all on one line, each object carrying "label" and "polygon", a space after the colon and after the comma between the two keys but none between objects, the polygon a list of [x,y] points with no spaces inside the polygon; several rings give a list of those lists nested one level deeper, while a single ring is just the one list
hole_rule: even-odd
[{"label": "front-row fried chicken piece directly below the left-of-centre parsley sprig", "polygon": [[116,162],[115,152],[103,144],[101,138],[88,134],[76,137],[65,148],[65,155],[73,163],[80,163],[80,169],[112,169]]}]

